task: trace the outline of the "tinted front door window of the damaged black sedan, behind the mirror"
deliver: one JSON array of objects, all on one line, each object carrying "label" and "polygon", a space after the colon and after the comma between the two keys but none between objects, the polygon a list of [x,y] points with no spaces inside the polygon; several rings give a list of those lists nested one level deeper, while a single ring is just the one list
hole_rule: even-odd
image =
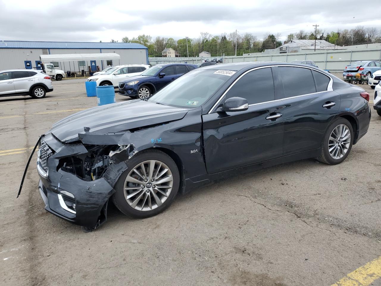
[{"label": "tinted front door window of the damaged black sedan, behind the mirror", "polygon": [[257,69],[241,77],[226,93],[225,99],[233,96],[246,98],[249,104],[275,100],[271,67]]}]

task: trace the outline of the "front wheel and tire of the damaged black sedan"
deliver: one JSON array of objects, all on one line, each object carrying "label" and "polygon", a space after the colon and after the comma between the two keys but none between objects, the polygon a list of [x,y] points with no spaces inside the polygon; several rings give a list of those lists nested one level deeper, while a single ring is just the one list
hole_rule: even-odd
[{"label": "front wheel and tire of the damaged black sedan", "polygon": [[170,156],[159,150],[142,151],[127,162],[112,196],[123,214],[144,219],[170,206],[179,190],[180,174]]}]

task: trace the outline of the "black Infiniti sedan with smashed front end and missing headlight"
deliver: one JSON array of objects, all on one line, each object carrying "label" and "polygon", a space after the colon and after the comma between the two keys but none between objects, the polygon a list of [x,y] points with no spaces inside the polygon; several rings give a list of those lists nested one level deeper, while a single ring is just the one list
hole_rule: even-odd
[{"label": "black Infiniti sedan with smashed front end and missing headlight", "polygon": [[86,230],[106,221],[111,201],[130,217],[150,217],[179,191],[228,175],[306,158],[343,162],[367,133],[368,100],[313,66],[203,67],[146,101],[54,124],[38,140],[38,190],[46,210]]}]

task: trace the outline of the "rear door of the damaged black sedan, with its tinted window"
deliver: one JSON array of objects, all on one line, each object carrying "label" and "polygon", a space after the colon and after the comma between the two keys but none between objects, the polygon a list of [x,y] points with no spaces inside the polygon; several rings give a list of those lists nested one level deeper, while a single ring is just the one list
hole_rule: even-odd
[{"label": "rear door of the damaged black sedan, with its tinted window", "polygon": [[283,84],[283,155],[320,148],[328,124],[340,107],[332,79],[307,67],[279,66]]}]

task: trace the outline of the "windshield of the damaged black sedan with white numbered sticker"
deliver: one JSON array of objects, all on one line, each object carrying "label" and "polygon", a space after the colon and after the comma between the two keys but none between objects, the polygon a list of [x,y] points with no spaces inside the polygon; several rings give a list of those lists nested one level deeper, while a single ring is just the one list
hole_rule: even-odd
[{"label": "windshield of the damaged black sedan with white numbered sticker", "polygon": [[148,101],[182,108],[200,106],[230,78],[215,72],[217,71],[188,72],[152,95]]}]

